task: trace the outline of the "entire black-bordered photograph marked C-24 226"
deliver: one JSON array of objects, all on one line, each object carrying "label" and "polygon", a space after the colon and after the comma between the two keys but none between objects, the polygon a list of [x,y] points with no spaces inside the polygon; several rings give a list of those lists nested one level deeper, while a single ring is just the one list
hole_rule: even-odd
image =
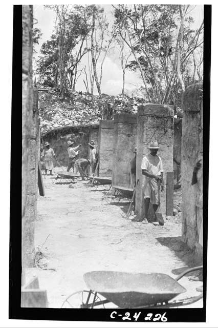
[{"label": "entire black-bordered photograph marked C-24 226", "polygon": [[20,310],[205,322],[211,6],[15,7]]}]

